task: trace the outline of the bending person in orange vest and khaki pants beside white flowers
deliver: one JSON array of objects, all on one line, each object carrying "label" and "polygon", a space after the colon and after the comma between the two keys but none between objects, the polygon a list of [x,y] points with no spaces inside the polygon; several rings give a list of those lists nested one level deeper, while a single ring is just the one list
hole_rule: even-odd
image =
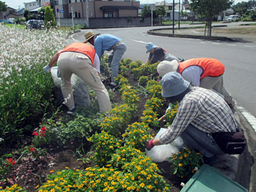
[{"label": "bending person in orange vest and khaki pants beside white flowers", "polygon": [[110,110],[109,93],[100,79],[100,60],[92,46],[80,42],[72,43],[55,53],[43,70],[49,73],[56,62],[58,65],[57,76],[61,77],[61,91],[66,99],[65,105],[68,107],[68,114],[72,114],[75,110],[71,85],[73,73],[95,91],[100,111],[108,112]]}]

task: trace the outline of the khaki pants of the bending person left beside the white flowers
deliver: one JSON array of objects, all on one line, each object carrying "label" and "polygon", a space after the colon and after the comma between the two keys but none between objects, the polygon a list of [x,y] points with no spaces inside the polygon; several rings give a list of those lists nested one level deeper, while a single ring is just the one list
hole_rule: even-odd
[{"label": "khaki pants of the bending person left beside the white flowers", "polygon": [[83,53],[62,52],[58,58],[57,65],[58,77],[61,77],[62,81],[62,95],[64,98],[68,98],[68,95],[71,95],[71,98],[66,102],[67,107],[73,107],[75,105],[71,85],[71,76],[74,73],[95,91],[100,111],[110,110],[109,93],[107,93],[105,86],[101,82],[97,70],[92,67],[90,58]]}]

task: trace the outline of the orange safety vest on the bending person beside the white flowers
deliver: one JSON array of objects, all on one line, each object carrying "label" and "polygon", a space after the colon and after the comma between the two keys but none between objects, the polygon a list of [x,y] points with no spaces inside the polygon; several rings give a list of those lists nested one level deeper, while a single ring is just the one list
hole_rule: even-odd
[{"label": "orange safety vest on the bending person beside the white flowers", "polygon": [[86,56],[88,56],[92,62],[92,66],[93,66],[93,61],[94,61],[94,56],[95,56],[95,50],[92,46],[88,45],[87,43],[72,43],[70,45],[68,45],[67,47],[63,48],[63,50],[61,50],[61,52],[58,54],[58,56],[60,56],[60,54],[62,52],[66,52],[66,51],[72,51],[72,52],[78,52],[78,53],[83,53]]}]

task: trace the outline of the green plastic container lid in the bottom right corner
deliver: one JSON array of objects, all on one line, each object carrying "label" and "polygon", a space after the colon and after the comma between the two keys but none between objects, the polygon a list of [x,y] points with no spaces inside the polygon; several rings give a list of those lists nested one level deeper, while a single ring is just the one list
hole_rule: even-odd
[{"label": "green plastic container lid in the bottom right corner", "polygon": [[180,192],[240,192],[248,191],[209,165],[201,166]]}]

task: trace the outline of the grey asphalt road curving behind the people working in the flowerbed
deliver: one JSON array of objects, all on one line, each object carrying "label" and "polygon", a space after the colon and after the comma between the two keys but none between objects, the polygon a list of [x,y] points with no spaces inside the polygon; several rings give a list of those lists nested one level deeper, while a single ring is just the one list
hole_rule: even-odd
[{"label": "grey asphalt road curving behind the people working in the flowerbed", "polygon": [[[232,23],[234,24],[234,23]],[[159,28],[159,27],[153,27]],[[164,48],[168,53],[185,60],[209,57],[219,60],[225,66],[224,85],[234,100],[256,117],[256,44],[240,42],[206,41],[174,37],[146,35],[151,27],[107,28],[82,30],[72,36],[73,41],[83,42],[87,31],[109,33],[120,37],[127,46],[124,58],[146,62],[146,43]],[[105,54],[110,53],[105,51]]]}]

